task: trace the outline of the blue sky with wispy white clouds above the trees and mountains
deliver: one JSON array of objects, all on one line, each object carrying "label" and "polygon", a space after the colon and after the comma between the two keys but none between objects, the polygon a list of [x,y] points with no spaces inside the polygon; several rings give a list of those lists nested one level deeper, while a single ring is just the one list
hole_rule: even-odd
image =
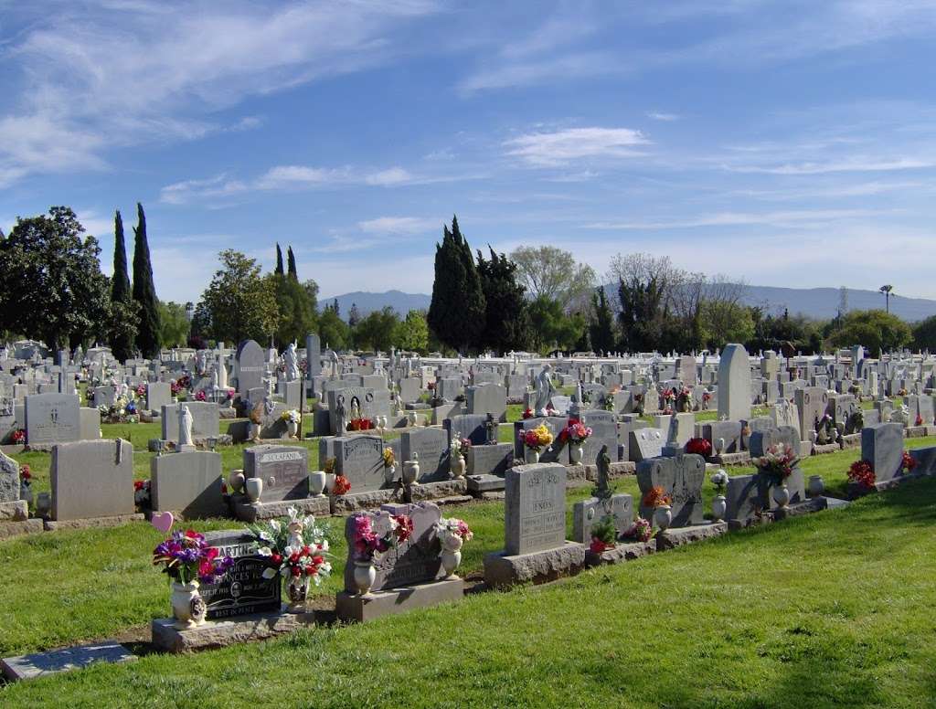
[{"label": "blue sky with wispy white clouds above the trees and mountains", "polygon": [[599,273],[936,297],[934,37],[913,0],[0,0],[0,228],[67,204],[110,273],[139,200],[180,301],[277,240],[325,296],[428,293],[453,212]]}]

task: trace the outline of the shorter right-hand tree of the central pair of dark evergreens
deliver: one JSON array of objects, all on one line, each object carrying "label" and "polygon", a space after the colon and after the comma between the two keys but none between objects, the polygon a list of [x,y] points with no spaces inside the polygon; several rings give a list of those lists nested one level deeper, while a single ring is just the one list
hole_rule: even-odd
[{"label": "shorter right-hand tree of the central pair of dark evergreens", "polygon": [[485,327],[480,345],[495,354],[526,349],[530,340],[530,313],[525,288],[517,281],[517,264],[505,253],[490,249],[490,260],[477,253],[477,272],[485,301]]}]

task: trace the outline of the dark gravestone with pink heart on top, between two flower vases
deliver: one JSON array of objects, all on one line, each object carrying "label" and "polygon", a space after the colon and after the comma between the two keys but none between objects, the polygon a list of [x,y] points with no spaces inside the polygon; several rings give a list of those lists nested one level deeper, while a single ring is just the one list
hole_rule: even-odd
[{"label": "dark gravestone with pink heart on top, between two flower vases", "polygon": [[374,570],[377,575],[371,590],[424,584],[438,581],[445,576],[435,530],[436,523],[442,518],[439,508],[431,502],[381,505],[378,512],[353,514],[344,522],[344,538],[348,545],[348,558],[344,566],[344,589],[348,593],[357,593],[354,583],[355,520],[362,515],[370,516],[374,532],[381,537],[390,528],[390,516],[400,514],[405,514],[413,520],[413,533],[409,539],[389,549],[386,554],[375,557]]}]

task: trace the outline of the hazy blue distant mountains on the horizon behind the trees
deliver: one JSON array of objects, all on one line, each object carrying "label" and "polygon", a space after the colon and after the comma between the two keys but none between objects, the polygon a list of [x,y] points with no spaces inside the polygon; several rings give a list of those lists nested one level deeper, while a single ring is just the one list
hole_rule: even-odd
[{"label": "hazy blue distant mountains on the horizon behind the trees", "polygon": [[[611,289],[608,289],[611,290]],[[609,294],[613,295],[613,294]],[[320,305],[332,302],[335,297],[323,298]],[[424,293],[366,293],[357,291],[338,296],[338,307],[343,318],[347,318],[352,305],[358,306],[358,312],[366,315],[379,311],[385,306],[405,315],[411,310],[428,310],[431,297]],[[791,315],[802,313],[812,318],[827,319],[834,317],[839,309],[838,288],[775,288],[769,285],[749,285],[744,301],[748,305],[768,306],[770,312],[782,312],[784,308]],[[884,296],[878,291],[848,290],[848,309],[865,311],[871,308],[884,308]],[[890,297],[890,311],[908,322],[923,320],[936,315],[936,300],[922,297]]]}]

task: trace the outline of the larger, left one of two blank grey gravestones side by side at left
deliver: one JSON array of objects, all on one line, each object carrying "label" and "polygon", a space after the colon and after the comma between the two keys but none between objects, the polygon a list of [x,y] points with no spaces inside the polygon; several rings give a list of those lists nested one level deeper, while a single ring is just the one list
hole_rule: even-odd
[{"label": "larger, left one of two blank grey gravestones side by side at left", "polygon": [[59,443],[52,447],[50,476],[55,520],[136,512],[133,446],[127,441]]}]

